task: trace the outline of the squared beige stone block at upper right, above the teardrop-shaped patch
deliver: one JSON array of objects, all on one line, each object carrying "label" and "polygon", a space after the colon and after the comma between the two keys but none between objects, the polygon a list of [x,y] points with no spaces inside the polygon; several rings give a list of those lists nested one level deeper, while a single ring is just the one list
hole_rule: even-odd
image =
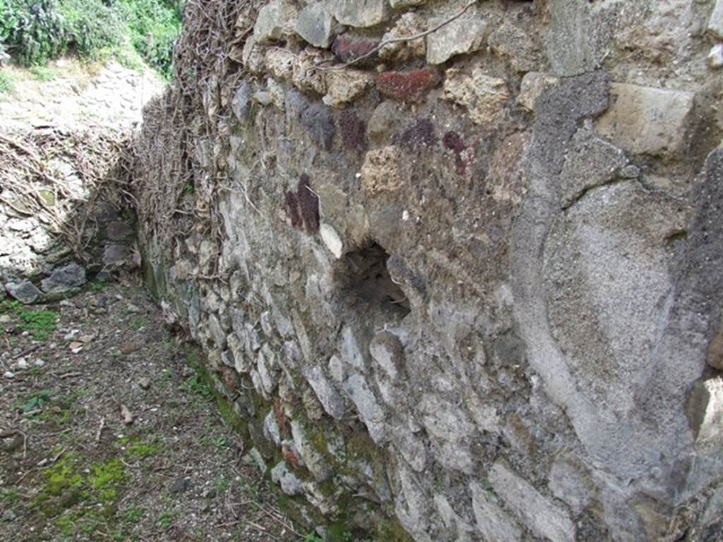
[{"label": "squared beige stone block at upper right, above the teardrop-shaped patch", "polygon": [[610,95],[609,109],[596,121],[600,135],[635,154],[685,150],[693,93],[613,83]]}]

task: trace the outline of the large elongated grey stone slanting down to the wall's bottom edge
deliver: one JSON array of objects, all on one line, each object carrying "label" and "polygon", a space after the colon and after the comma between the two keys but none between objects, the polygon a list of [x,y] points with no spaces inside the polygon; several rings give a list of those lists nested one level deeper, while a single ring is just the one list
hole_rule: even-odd
[{"label": "large elongated grey stone slanting down to the wall's bottom edge", "polygon": [[552,542],[575,541],[575,525],[565,511],[552,504],[505,465],[492,465],[489,483],[536,535]]}]

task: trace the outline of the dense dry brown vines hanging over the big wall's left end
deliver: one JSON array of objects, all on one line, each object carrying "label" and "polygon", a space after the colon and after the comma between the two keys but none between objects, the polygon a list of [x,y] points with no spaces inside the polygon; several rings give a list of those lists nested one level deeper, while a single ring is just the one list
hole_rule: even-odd
[{"label": "dense dry brown vines hanging over the big wall's left end", "polygon": [[[243,77],[239,59],[268,0],[187,0],[176,79],[149,103],[134,140],[134,182],[146,238],[173,246],[191,231],[220,238],[216,195],[226,184],[226,107]],[[201,113],[202,112],[202,113]]]}]

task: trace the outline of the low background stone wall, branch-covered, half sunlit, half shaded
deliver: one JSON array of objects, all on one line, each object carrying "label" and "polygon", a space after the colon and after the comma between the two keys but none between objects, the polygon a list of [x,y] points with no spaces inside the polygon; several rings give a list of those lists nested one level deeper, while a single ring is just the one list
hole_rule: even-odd
[{"label": "low background stone wall, branch-covered, half sunlit, half shaded", "polygon": [[56,301],[140,260],[122,137],[5,129],[0,145],[0,297]]}]

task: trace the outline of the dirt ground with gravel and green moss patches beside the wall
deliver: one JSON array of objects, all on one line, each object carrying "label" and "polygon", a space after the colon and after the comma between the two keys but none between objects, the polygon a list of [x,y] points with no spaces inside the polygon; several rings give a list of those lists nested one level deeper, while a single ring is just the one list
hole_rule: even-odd
[{"label": "dirt ground with gravel and green moss patches beside the wall", "polygon": [[0,303],[0,540],[315,541],[137,279]]}]

